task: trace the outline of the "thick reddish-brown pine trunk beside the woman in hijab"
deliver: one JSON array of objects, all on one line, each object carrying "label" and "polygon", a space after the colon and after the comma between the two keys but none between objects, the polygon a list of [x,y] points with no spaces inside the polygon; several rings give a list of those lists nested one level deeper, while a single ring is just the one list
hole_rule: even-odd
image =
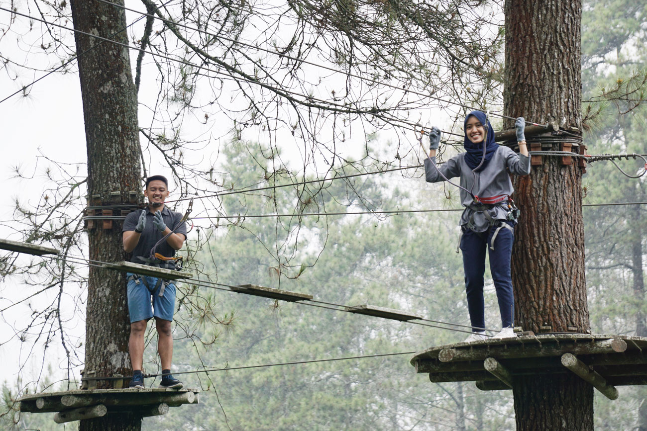
[{"label": "thick reddish-brown pine trunk beside the woman in hijab", "polygon": [[[581,16],[577,0],[506,0],[505,114],[581,127]],[[515,321],[524,330],[589,332],[582,173],[576,162],[560,161],[544,156],[529,176],[514,179],[521,207],[512,253]],[[516,379],[513,394],[518,430],[593,430],[593,387],[575,375]]]}]

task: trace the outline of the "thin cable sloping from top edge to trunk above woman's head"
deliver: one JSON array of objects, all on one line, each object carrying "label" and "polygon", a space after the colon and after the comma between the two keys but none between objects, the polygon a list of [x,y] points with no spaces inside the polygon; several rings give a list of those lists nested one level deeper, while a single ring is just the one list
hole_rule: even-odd
[{"label": "thin cable sloping from top edge to trunk above woman's head", "polygon": [[[287,54],[283,54],[283,53],[281,53],[281,52],[276,52],[276,51],[273,51],[273,50],[270,50],[270,49],[267,49],[267,48],[256,47],[255,45],[252,45],[252,44],[250,44],[250,43],[241,42],[241,41],[238,41],[238,40],[236,40],[236,39],[231,39],[231,38],[229,38],[229,37],[222,36],[222,35],[220,35],[220,34],[215,34],[215,33],[212,33],[212,32],[208,32],[208,31],[206,31],[206,30],[201,30],[201,29],[199,29],[199,28],[195,28],[195,27],[192,27],[192,26],[184,25],[184,24],[182,24],[182,23],[177,23],[176,21],[173,21],[173,20],[168,19],[168,18],[160,17],[160,16],[157,16],[157,15],[155,15],[155,14],[148,14],[147,12],[141,12],[141,11],[138,11],[138,10],[135,10],[135,9],[127,8],[126,6],[117,5],[116,3],[112,3],[111,1],[108,1],[108,0],[95,0],[95,1],[100,1],[101,3],[106,3],[107,5],[113,5],[113,6],[115,6],[116,8],[122,8],[122,9],[124,9],[124,10],[129,10],[130,12],[135,12],[135,13],[137,13],[137,14],[142,14],[142,15],[146,15],[146,16],[148,16],[148,17],[153,17],[154,19],[159,19],[160,21],[162,21],[163,23],[165,23],[165,24],[167,24],[167,25],[168,25],[168,24],[170,24],[170,25],[174,25],[174,26],[180,26],[180,27],[182,27],[182,28],[186,28],[186,30],[192,30],[192,31],[195,31],[195,32],[203,33],[203,34],[206,34],[207,36],[215,37],[216,39],[223,39],[223,40],[226,40],[226,41],[231,42],[231,43],[236,43],[237,45],[241,45],[241,46],[243,46],[243,47],[252,48],[252,49],[259,50],[259,51],[267,52],[268,54],[276,54],[276,55],[278,55],[278,56],[280,56],[280,57],[283,57],[283,58],[286,58],[286,59],[290,59],[290,60],[292,60],[292,61],[298,61],[298,62],[300,62],[300,63],[305,63],[305,64],[307,64],[307,65],[311,65],[311,66],[314,66],[314,67],[324,68],[324,69],[326,69],[326,70],[330,70],[331,72],[335,72],[335,73],[342,73],[342,74],[344,74],[345,76],[349,76],[349,77],[351,77],[351,78],[357,78],[357,79],[361,79],[361,80],[363,80],[363,81],[369,81],[370,83],[374,83],[374,84],[378,84],[378,85],[384,85],[385,87],[391,87],[391,88],[393,88],[393,89],[397,89],[397,90],[402,90],[402,88],[401,88],[401,87],[399,87],[398,85],[393,85],[393,84],[389,84],[389,83],[384,83],[383,81],[379,81],[379,80],[377,80],[377,79],[364,78],[364,77],[362,77],[362,76],[358,76],[358,75],[353,74],[353,73],[350,73],[350,72],[342,72],[342,71],[337,70],[337,69],[335,69],[335,68],[333,68],[333,67],[329,67],[329,66],[322,65],[321,63],[314,63],[314,62],[307,61],[307,60],[304,60],[304,59],[300,59],[300,58],[292,57],[292,56],[289,56],[289,55],[287,55]],[[155,8],[157,8],[157,10],[159,11],[159,7],[158,7],[157,5],[155,5]],[[159,13],[161,14],[161,12],[159,12]],[[443,98],[439,98],[439,97],[437,97],[437,96],[433,96],[432,94],[427,94],[427,93],[417,92],[417,91],[415,91],[415,90],[404,90],[404,91],[405,91],[405,92],[410,92],[411,94],[415,94],[415,95],[417,95],[417,96],[422,96],[422,97],[425,97],[425,98],[430,98],[430,99],[432,99],[432,100],[441,101],[441,102],[443,102],[443,103],[448,103],[448,104],[450,104],[450,105],[455,105],[455,106],[463,107],[463,108],[465,108],[465,109],[470,109],[470,110],[480,110],[480,109],[477,109],[477,108],[471,107],[471,106],[469,106],[469,105],[465,105],[465,104],[463,104],[463,103],[459,103],[459,102],[452,101],[452,100],[445,100],[445,99],[443,99]],[[509,116],[506,116],[506,115],[503,115],[503,114],[498,114],[498,113],[496,113],[496,112],[492,112],[492,115],[499,116],[499,117],[501,117],[501,118],[508,118],[508,119],[510,119],[510,120],[516,120],[516,118],[509,117]],[[538,123],[532,123],[531,121],[527,121],[527,122],[528,122],[528,123],[530,123],[530,124],[532,124],[532,125],[541,125],[541,124],[538,124]],[[462,135],[458,135],[458,136],[462,136]]]}]

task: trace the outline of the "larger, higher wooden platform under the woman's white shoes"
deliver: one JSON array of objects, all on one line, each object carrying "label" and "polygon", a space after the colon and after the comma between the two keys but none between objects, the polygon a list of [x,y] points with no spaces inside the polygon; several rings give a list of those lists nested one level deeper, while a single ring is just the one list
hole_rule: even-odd
[{"label": "larger, higher wooden platform under the woman's white shoes", "polygon": [[512,387],[518,375],[576,373],[610,399],[614,386],[647,384],[647,338],[560,333],[459,342],[416,353],[411,365],[432,382]]}]

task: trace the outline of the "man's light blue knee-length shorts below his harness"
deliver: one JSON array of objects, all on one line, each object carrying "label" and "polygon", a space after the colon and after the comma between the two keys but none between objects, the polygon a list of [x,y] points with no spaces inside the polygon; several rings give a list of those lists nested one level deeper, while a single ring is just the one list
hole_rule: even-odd
[{"label": "man's light blue knee-length shorts below his harness", "polygon": [[[130,277],[132,273],[127,273]],[[128,282],[128,312],[130,322],[148,321],[151,317],[157,317],[164,321],[173,321],[173,311],[175,310],[175,284],[172,281],[166,285],[164,295],[159,296],[162,284],[155,289],[157,285],[156,277],[147,277],[139,275],[138,279],[129,280]],[[146,279],[148,287],[142,282]]]}]

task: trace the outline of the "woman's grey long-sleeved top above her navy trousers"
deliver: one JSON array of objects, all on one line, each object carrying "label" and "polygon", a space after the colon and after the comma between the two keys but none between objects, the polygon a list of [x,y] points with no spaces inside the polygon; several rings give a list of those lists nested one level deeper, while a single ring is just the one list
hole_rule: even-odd
[{"label": "woman's grey long-sleeved top above her navy trousers", "polygon": [[[435,157],[432,158],[434,163],[435,159]],[[482,171],[477,172],[476,175],[472,174],[472,169],[465,162],[465,152],[461,152],[461,154],[450,158],[446,163],[437,166],[448,179],[460,176],[461,181],[459,184],[471,190],[472,194],[476,196],[483,196],[484,198],[498,196],[499,194],[510,196],[514,189],[512,188],[509,173],[516,175],[529,174],[530,157],[517,154],[509,147],[501,146],[494,152],[494,156],[492,156],[487,166]],[[444,178],[438,173],[438,169],[434,167],[429,158],[424,159],[424,174],[427,182],[444,181]],[[468,224],[470,218],[474,215],[474,224],[476,225],[474,231],[487,231],[488,227],[490,227],[487,216],[481,211],[472,209],[471,205],[474,204],[472,196],[463,189],[461,189],[461,204],[465,207],[465,211],[461,215],[461,226]],[[501,204],[493,205],[492,208],[485,211],[488,211],[494,220],[505,220],[507,205],[505,202],[501,202]]]}]

